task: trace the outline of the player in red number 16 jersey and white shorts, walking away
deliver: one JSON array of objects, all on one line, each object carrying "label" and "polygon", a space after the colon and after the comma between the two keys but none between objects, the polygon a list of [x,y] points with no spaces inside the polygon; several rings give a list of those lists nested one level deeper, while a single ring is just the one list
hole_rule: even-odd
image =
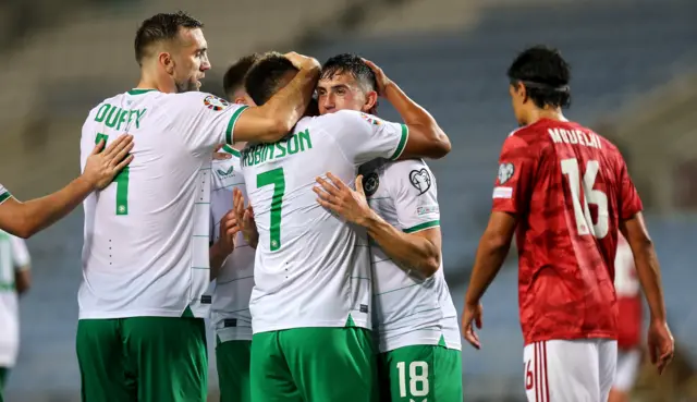
[{"label": "player in red number 16 jersey and white shorts, walking away", "polygon": [[570,66],[534,47],[509,69],[521,129],[504,142],[489,224],[465,299],[463,333],[480,348],[479,301],[518,246],[518,302],[529,401],[607,402],[617,352],[614,257],[627,237],[651,309],[648,344],[661,371],[673,356],[660,268],[626,165],[609,141],[564,119]]}]

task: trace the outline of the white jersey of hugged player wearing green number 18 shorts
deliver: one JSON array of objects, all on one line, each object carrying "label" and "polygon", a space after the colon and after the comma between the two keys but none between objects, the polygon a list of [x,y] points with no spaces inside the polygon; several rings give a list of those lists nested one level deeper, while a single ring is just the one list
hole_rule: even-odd
[{"label": "white jersey of hugged player wearing green number 18 shorts", "polygon": [[[368,204],[382,219],[406,233],[440,226],[436,178],[420,159],[372,161],[360,168]],[[441,260],[425,279],[401,268],[371,242],[374,328],[380,352],[411,345],[461,349],[457,313]]]}]

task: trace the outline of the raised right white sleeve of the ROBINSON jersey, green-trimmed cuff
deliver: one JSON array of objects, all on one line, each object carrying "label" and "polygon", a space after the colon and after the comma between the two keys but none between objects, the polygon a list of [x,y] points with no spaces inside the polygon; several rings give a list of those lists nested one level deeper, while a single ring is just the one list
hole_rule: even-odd
[{"label": "raised right white sleeve of the ROBINSON jersey, green-trimmed cuff", "polygon": [[331,115],[330,135],[346,159],[357,166],[377,158],[395,160],[406,146],[408,129],[405,124],[354,110],[340,110]]}]

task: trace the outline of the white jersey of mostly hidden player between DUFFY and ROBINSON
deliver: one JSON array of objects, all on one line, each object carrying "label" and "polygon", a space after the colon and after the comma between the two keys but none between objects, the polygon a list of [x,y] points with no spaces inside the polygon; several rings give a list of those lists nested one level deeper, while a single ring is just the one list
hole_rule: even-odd
[{"label": "white jersey of mostly hidden player between DUFFY and ROBINSON", "polygon": [[[221,151],[231,154],[232,158],[213,160],[212,163],[210,227],[213,242],[220,237],[220,220],[232,209],[232,190],[240,188],[247,198],[240,153],[227,145]],[[254,255],[255,249],[247,244],[242,232],[237,233],[235,249],[216,278],[210,318],[221,342],[252,340],[249,296],[254,288]]]}]

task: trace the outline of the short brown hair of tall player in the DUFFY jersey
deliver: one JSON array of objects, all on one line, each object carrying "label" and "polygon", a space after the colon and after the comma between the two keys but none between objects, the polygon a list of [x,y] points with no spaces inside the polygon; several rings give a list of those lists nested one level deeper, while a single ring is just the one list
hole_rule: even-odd
[{"label": "short brown hair of tall player in the DUFFY jersey", "polygon": [[176,37],[180,28],[200,28],[204,24],[183,11],[160,13],[145,20],[135,33],[135,61],[143,65],[148,47],[161,40]]}]

